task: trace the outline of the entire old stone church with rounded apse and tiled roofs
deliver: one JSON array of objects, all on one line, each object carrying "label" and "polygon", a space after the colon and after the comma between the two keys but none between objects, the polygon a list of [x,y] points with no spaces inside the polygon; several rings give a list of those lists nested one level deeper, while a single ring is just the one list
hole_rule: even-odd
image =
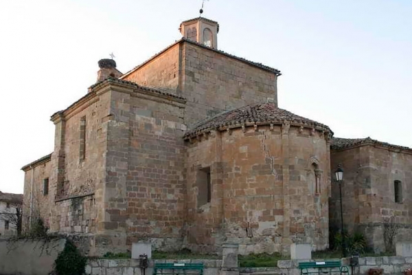
[{"label": "entire old stone church with rounded apse and tiled roofs", "polygon": [[325,250],[340,226],[332,174],[342,164],[345,227],[374,244],[388,216],[410,236],[411,148],[332,137],[278,108],[279,70],[218,50],[216,21],[179,30],[182,39],[125,74],[99,61],[97,83],[52,115],[53,153],[22,168],[25,225],[42,217],[90,255],[137,241]]}]

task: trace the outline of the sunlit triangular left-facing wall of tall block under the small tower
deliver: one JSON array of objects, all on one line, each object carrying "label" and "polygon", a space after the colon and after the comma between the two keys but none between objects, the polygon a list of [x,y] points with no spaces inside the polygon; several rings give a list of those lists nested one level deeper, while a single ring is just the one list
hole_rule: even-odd
[{"label": "sunlit triangular left-facing wall of tall block under the small tower", "polygon": [[179,86],[179,44],[141,65],[123,79],[176,94]]}]

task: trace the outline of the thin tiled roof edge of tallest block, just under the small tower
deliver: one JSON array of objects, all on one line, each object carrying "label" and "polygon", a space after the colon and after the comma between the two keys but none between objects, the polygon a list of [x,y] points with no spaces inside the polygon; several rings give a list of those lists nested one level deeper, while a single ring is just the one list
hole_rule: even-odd
[{"label": "thin tiled roof edge of tallest block, just under the small tower", "polygon": [[278,69],[274,69],[272,67],[268,67],[266,65],[263,65],[262,63],[256,63],[253,61],[249,61],[246,58],[242,58],[242,57],[238,57],[238,56],[233,56],[233,54],[228,54],[227,52],[223,52],[222,50],[217,50],[214,49],[212,47],[207,47],[206,45],[203,45],[201,43],[197,43],[196,41],[192,41],[190,39],[186,39],[185,37],[182,37],[179,41],[174,42],[172,45],[169,45],[168,47],[166,47],[165,49],[163,49],[161,52],[158,52],[157,54],[155,54],[154,56],[150,57],[148,60],[144,61],[144,63],[141,63],[140,65],[134,67],[133,69],[130,69],[130,71],[126,72],[126,74],[124,74],[123,76],[121,76],[120,78],[124,78],[125,76],[128,76],[128,74],[131,74],[132,72],[135,72],[137,69],[139,69],[140,67],[143,67],[144,65],[146,65],[146,63],[149,63],[150,61],[152,61],[152,59],[156,58],[157,56],[163,54],[163,52],[169,50],[171,47],[173,47],[176,44],[182,43],[182,42],[187,42],[187,43],[191,43],[193,45],[196,45],[198,47],[203,47],[204,49],[210,50],[212,52],[218,52],[219,54],[223,54],[225,56],[228,56],[230,58],[236,59],[238,61],[242,61],[244,63],[247,63],[249,65],[252,65],[254,67],[258,67],[260,69],[264,69],[265,71],[268,72],[273,72],[275,73],[277,76],[281,76],[282,74],[280,73],[280,71]]}]

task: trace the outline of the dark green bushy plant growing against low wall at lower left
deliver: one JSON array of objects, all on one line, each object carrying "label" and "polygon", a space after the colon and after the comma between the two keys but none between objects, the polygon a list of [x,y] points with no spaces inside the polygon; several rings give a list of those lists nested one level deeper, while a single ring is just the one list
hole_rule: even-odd
[{"label": "dark green bushy plant growing against low wall at lower left", "polygon": [[58,275],[84,274],[87,258],[80,254],[76,245],[69,239],[66,241],[65,248],[54,261],[54,270]]}]

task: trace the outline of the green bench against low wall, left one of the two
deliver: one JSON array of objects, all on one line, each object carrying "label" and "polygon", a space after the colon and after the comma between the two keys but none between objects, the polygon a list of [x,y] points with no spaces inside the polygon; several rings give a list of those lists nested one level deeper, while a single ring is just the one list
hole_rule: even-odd
[{"label": "green bench against low wall, left one of the two", "polygon": [[155,263],[153,275],[203,275],[203,263]]}]

